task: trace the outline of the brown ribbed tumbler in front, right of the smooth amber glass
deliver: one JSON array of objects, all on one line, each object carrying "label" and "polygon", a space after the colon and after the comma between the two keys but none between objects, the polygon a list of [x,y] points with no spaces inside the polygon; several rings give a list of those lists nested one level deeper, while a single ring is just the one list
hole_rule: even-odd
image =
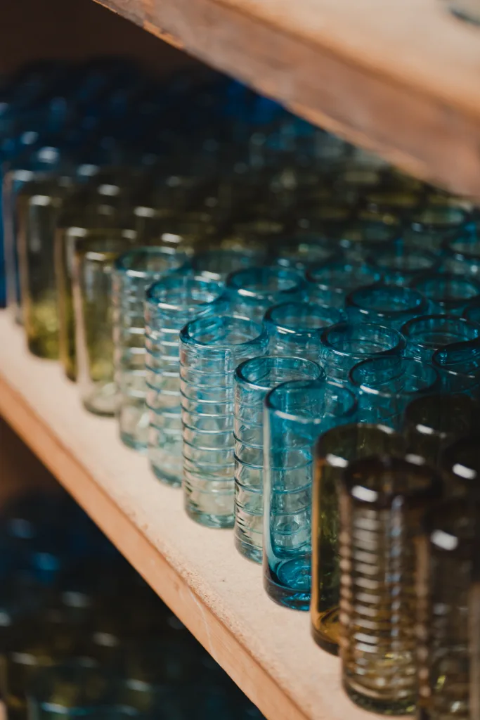
[{"label": "brown ribbed tumbler in front, right of the smooth amber glass", "polygon": [[357,705],[410,714],[417,689],[415,536],[440,477],[393,457],[350,464],[340,480],[340,657]]}]

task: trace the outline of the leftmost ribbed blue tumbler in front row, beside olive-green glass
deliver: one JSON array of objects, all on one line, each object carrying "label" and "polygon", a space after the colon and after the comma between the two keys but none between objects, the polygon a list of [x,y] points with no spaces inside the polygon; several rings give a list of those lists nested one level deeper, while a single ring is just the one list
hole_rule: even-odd
[{"label": "leftmost ribbed blue tumbler in front row, beside olive-green glass", "polygon": [[166,274],[188,271],[184,253],[171,248],[135,248],[120,256],[113,276],[114,374],[119,390],[119,430],[125,445],[148,445],[145,320],[147,288]]}]

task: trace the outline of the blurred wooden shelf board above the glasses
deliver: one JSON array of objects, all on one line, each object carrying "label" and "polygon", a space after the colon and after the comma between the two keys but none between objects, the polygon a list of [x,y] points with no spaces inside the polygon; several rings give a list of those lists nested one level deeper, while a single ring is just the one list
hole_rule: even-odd
[{"label": "blurred wooden shelf board above the glasses", "polygon": [[480,199],[480,29],[442,0],[99,0],[308,120]]}]

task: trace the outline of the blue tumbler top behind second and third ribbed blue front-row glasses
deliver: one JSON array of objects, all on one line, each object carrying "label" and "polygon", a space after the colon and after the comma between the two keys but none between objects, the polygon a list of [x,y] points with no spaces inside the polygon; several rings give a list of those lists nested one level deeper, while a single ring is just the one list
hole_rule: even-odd
[{"label": "blue tumbler top behind second and third ribbed blue front-row glasses", "polygon": [[229,275],[226,292],[233,314],[261,321],[271,305],[304,300],[305,281],[290,268],[257,266]]}]

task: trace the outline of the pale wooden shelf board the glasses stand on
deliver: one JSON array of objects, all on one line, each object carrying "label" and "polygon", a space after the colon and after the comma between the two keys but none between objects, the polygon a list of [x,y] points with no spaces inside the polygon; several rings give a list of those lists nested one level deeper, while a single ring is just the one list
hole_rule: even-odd
[{"label": "pale wooden shelf board the glasses stand on", "polygon": [[196,525],[180,490],[120,443],[114,420],[86,413],[57,363],[30,356],[0,312],[0,414],[268,720],[368,720],[318,648],[308,613],[276,606],[232,531]]}]

